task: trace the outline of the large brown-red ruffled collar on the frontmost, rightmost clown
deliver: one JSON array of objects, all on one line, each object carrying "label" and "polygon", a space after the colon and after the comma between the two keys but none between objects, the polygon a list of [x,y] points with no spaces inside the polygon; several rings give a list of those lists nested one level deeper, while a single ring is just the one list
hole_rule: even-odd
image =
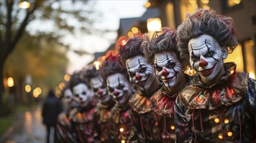
[{"label": "large brown-red ruffled collar on the frontmost, rightmost clown", "polygon": [[243,98],[248,86],[248,75],[235,72],[236,64],[224,64],[225,73],[214,85],[207,86],[199,75],[192,79],[193,84],[182,90],[180,101],[188,109],[214,110],[221,105],[229,106]]}]

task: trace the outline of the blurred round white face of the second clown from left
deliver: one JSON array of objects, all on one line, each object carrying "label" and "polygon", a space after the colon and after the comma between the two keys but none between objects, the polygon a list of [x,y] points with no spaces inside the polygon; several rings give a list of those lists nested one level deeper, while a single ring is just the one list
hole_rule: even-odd
[{"label": "blurred round white face of the second clown from left", "polygon": [[91,90],[84,83],[79,83],[73,87],[73,92],[76,101],[78,101],[81,107],[86,107],[91,103],[91,98],[93,96]]}]

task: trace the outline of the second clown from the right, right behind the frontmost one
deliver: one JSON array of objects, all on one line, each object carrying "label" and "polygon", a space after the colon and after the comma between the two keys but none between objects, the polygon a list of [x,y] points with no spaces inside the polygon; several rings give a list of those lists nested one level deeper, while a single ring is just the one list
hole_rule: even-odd
[{"label": "second clown from the right, right behind the frontmost one", "polygon": [[174,104],[178,92],[188,83],[189,77],[184,74],[183,61],[179,57],[176,45],[176,31],[163,28],[155,32],[150,40],[144,34],[142,44],[148,63],[155,67],[155,75],[165,86],[151,98],[153,110],[158,115],[158,127],[163,142],[175,142]]}]

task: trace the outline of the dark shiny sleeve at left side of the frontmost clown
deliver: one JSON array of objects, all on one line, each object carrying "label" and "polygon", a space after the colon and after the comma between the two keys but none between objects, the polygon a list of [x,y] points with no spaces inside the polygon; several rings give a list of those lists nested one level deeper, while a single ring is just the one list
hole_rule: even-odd
[{"label": "dark shiny sleeve at left side of the frontmost clown", "polygon": [[176,142],[193,142],[194,136],[189,129],[189,123],[185,118],[185,107],[180,103],[179,98],[176,99],[174,106],[174,123],[176,132]]}]

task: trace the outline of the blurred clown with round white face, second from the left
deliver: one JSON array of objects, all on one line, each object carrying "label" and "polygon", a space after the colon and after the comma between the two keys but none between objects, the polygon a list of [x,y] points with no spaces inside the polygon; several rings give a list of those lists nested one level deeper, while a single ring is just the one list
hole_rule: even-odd
[{"label": "blurred clown with round white face, second from the left", "polygon": [[84,77],[84,70],[74,72],[71,75],[71,89],[74,99],[78,102],[78,113],[72,120],[74,121],[74,130],[78,142],[95,142],[97,133],[94,131],[93,111],[95,100],[90,86]]}]

